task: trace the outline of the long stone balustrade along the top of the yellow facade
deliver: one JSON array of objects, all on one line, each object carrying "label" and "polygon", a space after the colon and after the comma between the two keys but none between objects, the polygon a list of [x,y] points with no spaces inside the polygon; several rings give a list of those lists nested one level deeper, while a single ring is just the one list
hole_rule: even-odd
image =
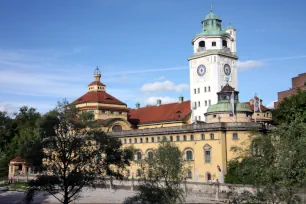
[{"label": "long stone balustrade along the top of the yellow facade", "polygon": [[140,130],[127,130],[123,132],[109,132],[110,136],[136,136],[136,135],[152,135],[152,134],[171,134],[183,132],[199,132],[199,131],[213,131],[213,130],[246,130],[246,129],[265,129],[259,123],[198,123],[174,127],[148,128]]}]

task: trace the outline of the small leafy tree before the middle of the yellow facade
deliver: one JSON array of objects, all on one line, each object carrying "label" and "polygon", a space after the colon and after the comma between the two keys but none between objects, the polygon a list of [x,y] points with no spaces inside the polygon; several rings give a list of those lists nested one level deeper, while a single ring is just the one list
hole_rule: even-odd
[{"label": "small leafy tree before the middle of the yellow facade", "polygon": [[185,194],[182,184],[187,175],[186,165],[179,148],[163,141],[158,149],[141,161],[138,194],[125,203],[183,203]]}]

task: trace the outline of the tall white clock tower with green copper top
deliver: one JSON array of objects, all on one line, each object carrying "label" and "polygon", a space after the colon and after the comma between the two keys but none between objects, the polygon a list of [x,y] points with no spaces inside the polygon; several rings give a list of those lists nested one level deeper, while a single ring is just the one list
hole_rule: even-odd
[{"label": "tall white clock tower with green copper top", "polygon": [[190,99],[192,122],[205,121],[210,105],[218,102],[217,92],[229,84],[238,91],[236,29],[222,28],[222,20],[212,12],[201,22],[202,31],[192,40]]}]

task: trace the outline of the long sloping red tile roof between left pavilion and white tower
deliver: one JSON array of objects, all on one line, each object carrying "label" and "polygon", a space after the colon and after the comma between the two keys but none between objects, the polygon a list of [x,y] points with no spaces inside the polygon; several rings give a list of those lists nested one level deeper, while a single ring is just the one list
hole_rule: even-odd
[{"label": "long sloping red tile roof between left pavilion and white tower", "polygon": [[190,101],[184,101],[182,103],[170,103],[160,106],[130,109],[128,118],[130,123],[137,125],[139,123],[183,120],[190,113]]}]

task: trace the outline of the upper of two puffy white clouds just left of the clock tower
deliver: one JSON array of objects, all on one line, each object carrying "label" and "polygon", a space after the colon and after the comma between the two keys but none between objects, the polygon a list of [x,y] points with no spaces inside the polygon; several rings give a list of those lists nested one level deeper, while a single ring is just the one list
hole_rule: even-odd
[{"label": "upper of two puffy white clouds just left of the clock tower", "polygon": [[144,84],[140,91],[142,92],[154,92],[154,91],[172,91],[172,92],[181,92],[184,89],[189,89],[188,84],[178,84],[175,85],[172,81],[164,82],[154,82],[149,84]]}]

